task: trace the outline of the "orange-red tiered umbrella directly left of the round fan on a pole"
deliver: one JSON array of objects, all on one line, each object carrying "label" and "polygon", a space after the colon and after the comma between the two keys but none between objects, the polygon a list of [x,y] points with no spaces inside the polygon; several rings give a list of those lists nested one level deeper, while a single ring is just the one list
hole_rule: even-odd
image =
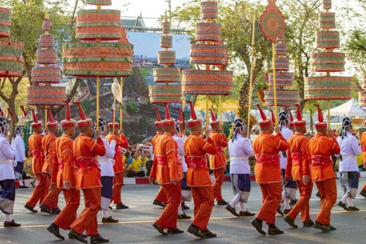
[{"label": "orange-red tiered umbrella directly left of the round fan on a pole", "polygon": [[206,130],[208,127],[208,95],[230,95],[233,89],[233,72],[225,70],[228,55],[227,48],[221,41],[222,26],[215,21],[217,14],[216,1],[201,2],[203,22],[196,25],[196,43],[191,44],[190,47],[190,63],[205,65],[205,69],[189,69],[182,72],[184,96],[206,95]]}]

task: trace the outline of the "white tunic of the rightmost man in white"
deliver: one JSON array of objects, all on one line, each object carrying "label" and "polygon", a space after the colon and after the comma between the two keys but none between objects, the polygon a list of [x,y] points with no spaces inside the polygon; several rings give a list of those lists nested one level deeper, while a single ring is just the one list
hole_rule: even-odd
[{"label": "white tunic of the rightmost man in white", "polygon": [[341,155],[343,160],[339,163],[339,172],[358,171],[356,156],[361,154],[361,147],[357,138],[352,133],[346,131],[346,137],[337,137],[337,142],[341,147]]}]

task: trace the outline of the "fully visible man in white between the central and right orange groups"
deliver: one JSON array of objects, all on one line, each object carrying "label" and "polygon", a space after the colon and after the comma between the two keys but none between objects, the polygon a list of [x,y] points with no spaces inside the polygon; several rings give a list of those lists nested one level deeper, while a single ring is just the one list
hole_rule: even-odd
[{"label": "fully visible man in white between the central and right orange groups", "polygon": [[[250,140],[244,138],[246,133],[245,123],[241,119],[234,121],[233,135],[228,143],[230,155],[230,178],[235,197],[226,205],[226,210],[237,217],[254,216],[249,212],[245,203],[248,202],[250,193],[250,166],[249,158],[254,157]],[[235,205],[239,203],[239,214]]]}]

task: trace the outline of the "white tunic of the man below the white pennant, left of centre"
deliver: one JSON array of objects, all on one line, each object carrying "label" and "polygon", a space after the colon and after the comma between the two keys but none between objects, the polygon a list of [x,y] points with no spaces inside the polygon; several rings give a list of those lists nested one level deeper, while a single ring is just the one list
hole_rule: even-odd
[{"label": "white tunic of the man below the white pennant, left of centre", "polygon": [[114,148],[116,148],[116,141],[112,140],[111,144],[107,140],[105,140],[105,137],[101,135],[101,138],[104,142],[105,147],[105,155],[98,157],[99,161],[99,167],[101,168],[101,176],[114,176],[113,171],[113,165],[114,165],[114,154],[116,151]]}]

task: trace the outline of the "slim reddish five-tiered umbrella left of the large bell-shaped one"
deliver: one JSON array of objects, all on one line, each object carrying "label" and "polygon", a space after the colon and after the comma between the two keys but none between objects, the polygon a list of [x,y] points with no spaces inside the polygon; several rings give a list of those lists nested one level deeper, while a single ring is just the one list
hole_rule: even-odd
[{"label": "slim reddish five-tiered umbrella left of the large bell-shaped one", "polygon": [[[65,100],[66,88],[55,86],[61,81],[61,68],[57,66],[57,51],[54,49],[55,40],[51,30],[51,21],[46,13],[43,19],[39,49],[37,50],[36,66],[32,69],[32,85],[27,87],[27,105],[44,106],[45,121],[47,121],[47,106],[62,105]],[[46,125],[46,123],[44,123]]]}]

